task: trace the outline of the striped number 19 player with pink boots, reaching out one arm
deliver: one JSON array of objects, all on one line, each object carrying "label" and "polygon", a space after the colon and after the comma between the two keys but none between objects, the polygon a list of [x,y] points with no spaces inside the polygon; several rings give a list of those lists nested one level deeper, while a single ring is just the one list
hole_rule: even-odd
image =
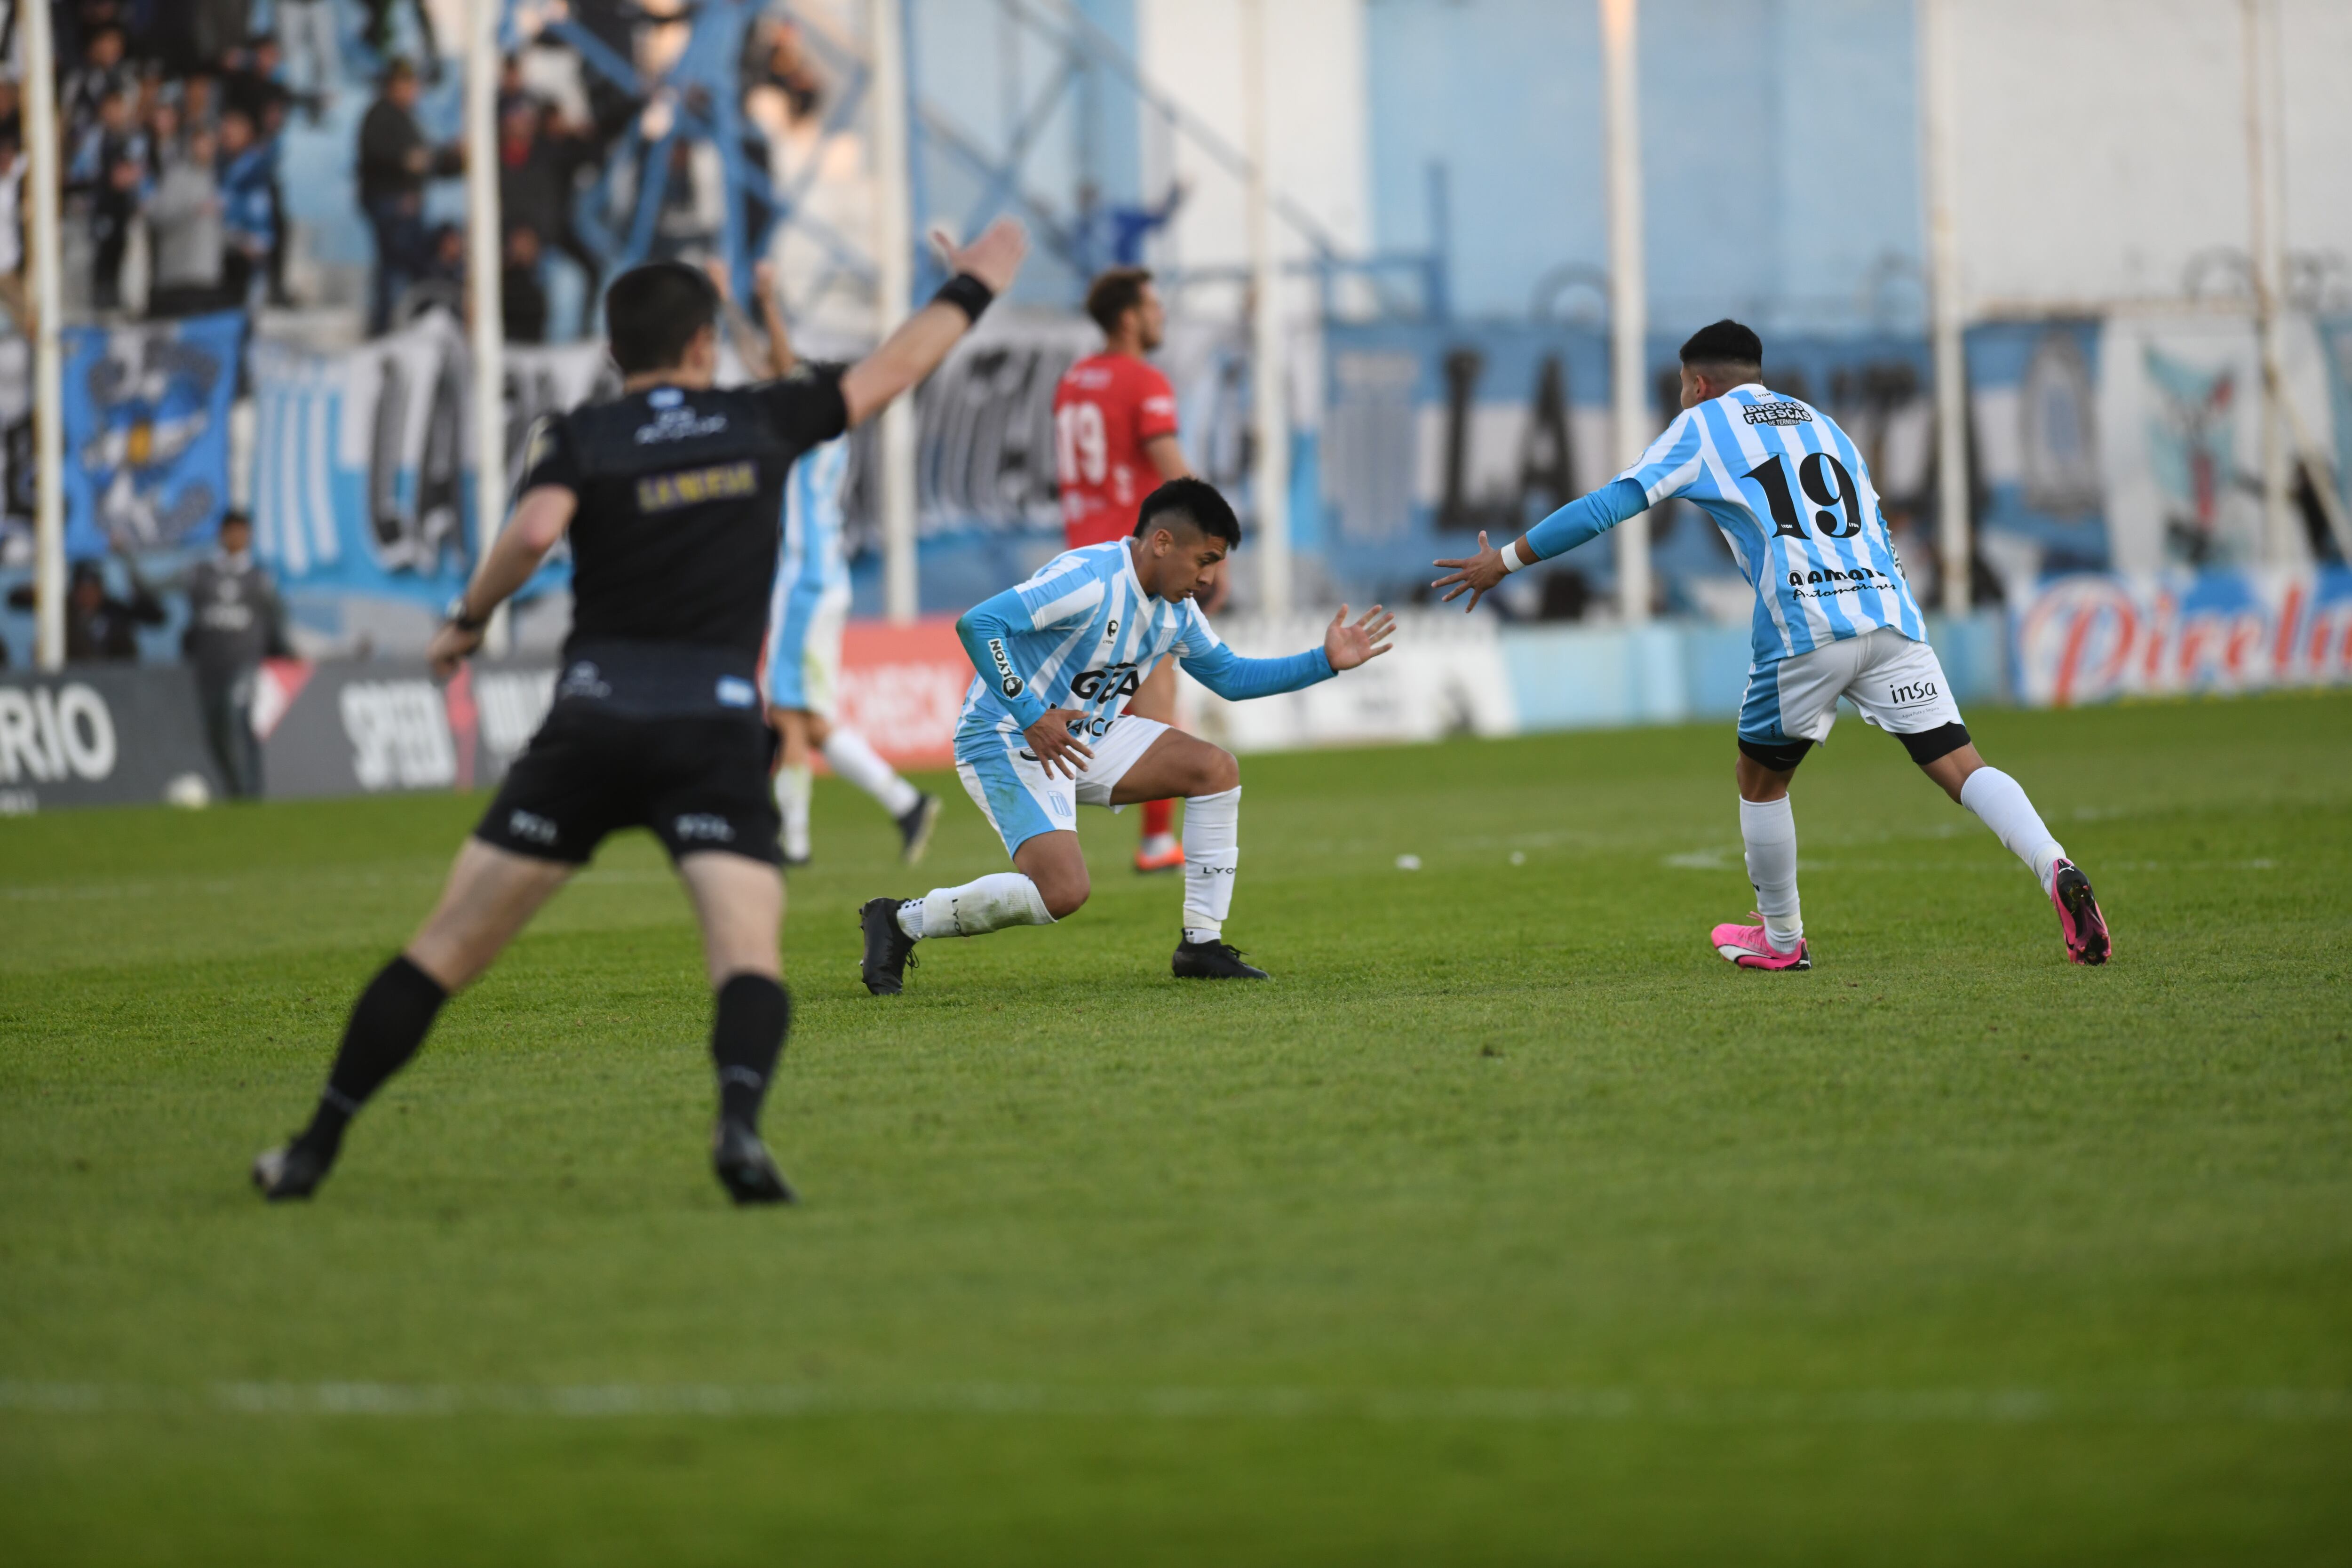
[{"label": "striped number 19 player with pink boots, reaching out one arm", "polygon": [[1959,722],[1926,623],[1903,581],[1870,468],[1820,409],[1766,390],[1764,343],[1738,322],[1682,346],[1682,414],[1642,461],[1559,508],[1435,588],[1465,609],[1508,574],[1573,550],[1635,512],[1684,496],[1724,531],[1757,590],[1755,663],[1740,705],[1740,839],[1762,926],[1715,926],[1715,950],[1743,969],[1811,969],[1797,910],[1797,818],[1788,783],[1830,738],[1837,698],[1893,733],[1929,778],[1973,811],[2042,882],[2074,964],[2105,964],[2107,919],[2009,773],[1985,766]]}]

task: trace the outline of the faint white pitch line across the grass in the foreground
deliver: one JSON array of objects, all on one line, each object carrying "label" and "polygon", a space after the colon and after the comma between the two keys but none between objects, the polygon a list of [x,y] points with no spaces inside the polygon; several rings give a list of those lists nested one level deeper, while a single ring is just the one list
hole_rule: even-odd
[{"label": "faint white pitch line across the grass in the foreground", "polygon": [[828,1387],[807,1382],[5,1382],[0,1413],[108,1415],[141,1410],[230,1415],[543,1415],[821,1418],[1025,1415],[1112,1420],[1371,1420],[1371,1422],[1696,1422],[2013,1427],[2032,1422],[2352,1422],[2352,1389],[1218,1389],[948,1382]]}]

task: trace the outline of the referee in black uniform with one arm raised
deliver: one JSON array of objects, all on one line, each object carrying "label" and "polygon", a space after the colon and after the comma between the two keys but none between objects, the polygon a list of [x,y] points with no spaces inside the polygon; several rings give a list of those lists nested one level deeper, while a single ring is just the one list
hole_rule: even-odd
[{"label": "referee in black uniform with one arm raised", "polygon": [[783,879],[767,788],[774,731],[760,710],[760,639],[776,578],[786,473],[809,447],[922,381],[978,320],[1028,242],[1000,221],[882,348],[849,367],[715,390],[720,299],[691,266],[654,263],[604,299],[623,395],[532,433],[515,512],[433,637],[447,677],[492,609],[572,534],[572,637],[548,722],[456,856],[440,905],[350,1009],[318,1112],[254,1159],[270,1199],[310,1197],[343,1128],[423,1044],[597,842],[652,827],[703,926],[717,1018],[720,1119],[710,1166],[739,1204],[788,1204],[760,1143],[760,1100],[793,1004],[776,938]]}]

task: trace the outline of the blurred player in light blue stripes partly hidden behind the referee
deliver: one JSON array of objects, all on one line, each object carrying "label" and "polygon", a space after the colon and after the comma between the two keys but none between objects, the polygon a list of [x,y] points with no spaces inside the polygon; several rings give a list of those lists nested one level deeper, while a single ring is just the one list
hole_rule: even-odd
[{"label": "blurred player in light blue stripes partly hidden behind the referee", "polygon": [[[710,263],[710,280],[727,299],[727,268]],[[743,329],[741,310],[727,299],[727,324],[736,353],[748,364],[767,360],[767,374],[786,376],[797,364],[793,336],[776,301],[774,268],[757,273],[757,343]],[[764,348],[764,353],[762,353]],[[776,557],[776,590],[767,609],[767,642],[760,649],[760,691],[767,719],[783,736],[776,769],[776,811],[783,813],[783,863],[809,863],[809,752],[823,752],[833,771],[866,790],[898,823],[898,853],[922,860],[938,823],[938,797],[898,778],[854,729],[833,722],[842,672],[842,623],[849,618],[849,564],[842,559],[842,484],[849,480],[849,437],[811,447],[783,487],[783,550]]]}]

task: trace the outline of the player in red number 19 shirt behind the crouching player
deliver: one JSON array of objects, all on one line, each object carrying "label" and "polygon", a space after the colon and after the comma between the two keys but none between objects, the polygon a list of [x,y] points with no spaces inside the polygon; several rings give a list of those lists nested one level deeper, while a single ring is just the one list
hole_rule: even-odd
[{"label": "player in red number 19 shirt behind the crouching player", "polygon": [[[1087,315],[1103,329],[1103,353],[1063,371],[1054,388],[1054,473],[1061,482],[1061,531],[1073,550],[1127,538],[1145,491],[1192,470],[1176,444],[1176,390],[1143,355],[1167,336],[1167,310],[1152,275],[1138,266],[1110,268],[1087,289]],[[1204,590],[1207,609],[1223,599],[1223,578]],[[1176,722],[1176,665],[1160,661],[1143,672],[1129,712]],[[1176,802],[1143,802],[1138,872],[1183,865],[1183,844],[1169,832]]]}]

